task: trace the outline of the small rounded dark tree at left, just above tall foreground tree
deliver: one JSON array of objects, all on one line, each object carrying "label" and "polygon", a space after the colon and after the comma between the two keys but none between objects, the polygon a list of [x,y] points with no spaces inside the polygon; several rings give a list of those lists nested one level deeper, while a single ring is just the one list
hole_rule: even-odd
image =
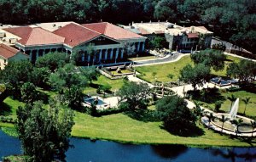
[{"label": "small rounded dark tree at left, just above tall foreground tree", "polygon": [[30,82],[26,82],[20,88],[21,98],[26,103],[33,103],[38,98],[38,92],[35,85]]}]

